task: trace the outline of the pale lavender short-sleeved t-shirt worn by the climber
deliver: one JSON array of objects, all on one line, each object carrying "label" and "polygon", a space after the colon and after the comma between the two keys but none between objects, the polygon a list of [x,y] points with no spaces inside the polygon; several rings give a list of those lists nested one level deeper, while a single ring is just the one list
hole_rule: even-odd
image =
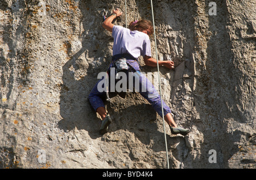
[{"label": "pale lavender short-sleeved t-shirt worn by the climber", "polygon": [[151,57],[150,38],[140,31],[130,31],[128,28],[114,26],[112,30],[114,37],[113,56],[129,53],[135,58],[139,56]]}]

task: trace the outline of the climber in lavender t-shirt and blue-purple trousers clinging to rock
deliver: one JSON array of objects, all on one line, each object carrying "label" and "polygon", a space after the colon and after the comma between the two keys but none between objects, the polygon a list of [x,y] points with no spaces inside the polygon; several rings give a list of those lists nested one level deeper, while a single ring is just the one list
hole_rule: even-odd
[{"label": "climber in lavender t-shirt and blue-purple trousers clinging to rock", "polygon": [[[151,45],[149,36],[153,33],[152,23],[148,20],[131,22],[129,25],[129,29],[121,26],[114,26],[114,24],[112,23],[113,20],[121,15],[122,12],[118,9],[115,9],[113,10],[113,14],[106,18],[106,20],[102,24],[102,26],[106,30],[112,32],[112,36],[114,37],[113,58],[109,69],[115,66],[115,62],[117,62],[117,60],[125,58],[127,63],[127,70],[125,70],[124,72],[127,74],[128,72],[139,73],[139,56],[143,56],[143,60],[146,65],[157,66],[157,61],[151,57]],[[158,64],[159,66],[165,66],[168,69],[174,69],[173,61],[158,61]],[[139,74],[140,87],[142,87],[143,84],[149,87],[146,88],[146,91],[140,90],[139,93],[144,98],[146,98],[147,101],[152,104],[152,107],[155,109],[155,111],[158,112],[160,116],[162,116],[162,103],[160,95],[158,94],[152,83],[148,81],[148,79],[142,73]],[[98,81],[93,87],[89,95],[89,101],[90,104],[92,104],[94,110],[101,116],[102,123],[100,133],[104,134],[108,132],[108,126],[112,122],[112,119],[106,112],[105,105],[101,99],[102,97],[106,96],[106,92],[98,91],[98,83],[100,81]],[[187,135],[189,130],[182,127],[177,127],[177,124],[172,118],[170,107],[168,107],[167,104],[164,102],[163,110],[164,120],[166,120],[166,122],[170,125],[171,133],[180,133],[183,136]]]}]

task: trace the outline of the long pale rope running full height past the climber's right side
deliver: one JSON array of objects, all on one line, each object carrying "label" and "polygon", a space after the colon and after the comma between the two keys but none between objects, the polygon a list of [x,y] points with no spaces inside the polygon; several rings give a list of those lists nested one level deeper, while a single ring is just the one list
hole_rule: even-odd
[{"label": "long pale rope running full height past the climber's right side", "polygon": [[[152,0],[151,0],[151,10],[152,10],[152,23],[153,23],[153,27],[154,27],[154,36],[155,36],[155,20],[154,20],[154,10],[153,10]],[[157,66],[158,66],[158,81],[159,81],[159,91],[160,91],[160,98],[161,98],[161,105],[162,105],[164,140],[165,140],[165,143],[166,143],[167,168],[169,169],[169,157],[168,157],[167,140],[166,140],[166,127],[165,127],[165,123],[164,123],[163,99],[162,99],[162,90],[161,90],[159,64],[158,64],[158,49],[156,47],[156,36],[155,36],[155,53],[156,53],[156,62],[157,62]]]}]

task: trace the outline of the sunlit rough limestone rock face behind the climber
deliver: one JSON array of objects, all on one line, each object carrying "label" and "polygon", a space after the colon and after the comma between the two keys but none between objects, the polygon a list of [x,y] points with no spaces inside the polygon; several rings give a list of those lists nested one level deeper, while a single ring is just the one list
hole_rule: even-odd
[{"label": "sunlit rough limestone rock face behind the climber", "polygon": [[[166,168],[162,118],[138,93],[113,95],[101,119],[90,90],[112,57],[102,10],[120,0],[1,0],[0,168]],[[256,3],[154,1],[163,99],[177,124],[170,168],[255,168]],[[127,22],[152,20],[150,1],[127,1]],[[151,38],[155,57],[154,36]],[[157,68],[142,71],[156,83]]]}]

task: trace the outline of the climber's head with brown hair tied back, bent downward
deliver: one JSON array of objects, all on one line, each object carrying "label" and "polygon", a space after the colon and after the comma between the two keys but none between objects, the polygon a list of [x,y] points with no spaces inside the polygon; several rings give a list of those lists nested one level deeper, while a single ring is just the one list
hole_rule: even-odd
[{"label": "climber's head with brown hair tied back, bent downward", "polygon": [[141,31],[146,33],[148,36],[153,34],[153,25],[150,22],[150,20],[135,20],[134,22],[131,22],[129,25],[129,29],[131,31]]}]

